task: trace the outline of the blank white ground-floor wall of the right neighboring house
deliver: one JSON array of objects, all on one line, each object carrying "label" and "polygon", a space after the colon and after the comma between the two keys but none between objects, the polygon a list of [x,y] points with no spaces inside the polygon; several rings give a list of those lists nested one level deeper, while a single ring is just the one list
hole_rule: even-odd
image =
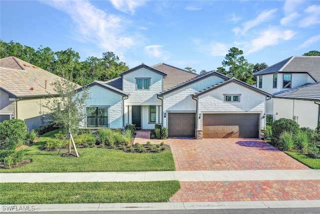
[{"label": "blank white ground-floor wall of the right neighboring house", "polygon": [[319,117],[319,105],[314,101],[273,98],[273,119],[293,119],[300,127],[315,129]]}]

